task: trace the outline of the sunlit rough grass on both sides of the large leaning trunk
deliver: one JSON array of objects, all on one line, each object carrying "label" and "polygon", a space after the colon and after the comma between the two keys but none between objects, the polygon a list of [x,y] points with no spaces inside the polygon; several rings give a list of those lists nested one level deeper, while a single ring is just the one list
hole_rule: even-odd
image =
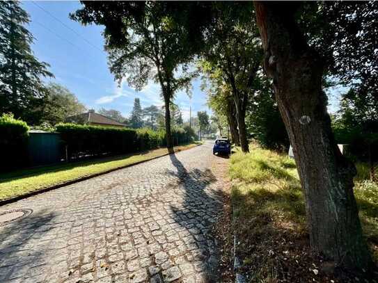
[{"label": "sunlit rough grass on both sides of the large leaning trunk", "polygon": [[[378,186],[367,180],[366,165],[357,164],[356,168],[354,195],[359,216],[378,259]],[[264,238],[291,231],[299,238],[306,236],[304,195],[294,159],[251,145],[249,154],[236,152],[231,156],[230,177],[231,201],[240,234]]]}]

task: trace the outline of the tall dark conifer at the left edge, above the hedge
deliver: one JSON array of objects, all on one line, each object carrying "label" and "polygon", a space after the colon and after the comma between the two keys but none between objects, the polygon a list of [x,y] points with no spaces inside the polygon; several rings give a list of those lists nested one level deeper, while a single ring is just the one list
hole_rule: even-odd
[{"label": "tall dark conifer at the left edge, above the hedge", "polygon": [[0,4],[0,113],[13,113],[33,124],[42,115],[47,95],[42,76],[49,65],[33,55],[33,35],[25,28],[29,15],[18,1]]}]

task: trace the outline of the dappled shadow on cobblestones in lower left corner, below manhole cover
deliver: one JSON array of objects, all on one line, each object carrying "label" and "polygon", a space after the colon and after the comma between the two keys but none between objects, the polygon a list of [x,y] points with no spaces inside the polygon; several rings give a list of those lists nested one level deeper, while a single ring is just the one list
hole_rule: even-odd
[{"label": "dappled shadow on cobblestones in lower left corner, below manhole cover", "polygon": [[0,226],[0,282],[44,280],[47,254],[55,247],[40,238],[55,229],[49,225],[54,217],[44,210]]}]

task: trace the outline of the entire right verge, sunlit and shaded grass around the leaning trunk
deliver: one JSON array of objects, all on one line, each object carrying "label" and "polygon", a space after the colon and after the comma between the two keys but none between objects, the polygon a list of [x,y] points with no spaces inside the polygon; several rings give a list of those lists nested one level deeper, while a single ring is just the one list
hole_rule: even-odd
[{"label": "entire right verge, sunlit and shaded grass around the leaning trunk", "polygon": [[[377,260],[378,186],[361,175],[355,179],[355,196]],[[237,252],[251,282],[338,282],[322,273],[321,257],[310,252],[304,196],[293,159],[251,145],[251,153],[231,156],[230,177]]]}]

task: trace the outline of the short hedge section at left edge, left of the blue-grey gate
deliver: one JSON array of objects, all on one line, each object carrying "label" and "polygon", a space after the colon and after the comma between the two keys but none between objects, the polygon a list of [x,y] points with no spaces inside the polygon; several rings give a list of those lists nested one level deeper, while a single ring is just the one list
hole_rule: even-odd
[{"label": "short hedge section at left edge, left of the blue-grey gate", "polygon": [[28,165],[27,138],[29,127],[26,122],[13,115],[0,116],[0,169],[10,170]]}]

